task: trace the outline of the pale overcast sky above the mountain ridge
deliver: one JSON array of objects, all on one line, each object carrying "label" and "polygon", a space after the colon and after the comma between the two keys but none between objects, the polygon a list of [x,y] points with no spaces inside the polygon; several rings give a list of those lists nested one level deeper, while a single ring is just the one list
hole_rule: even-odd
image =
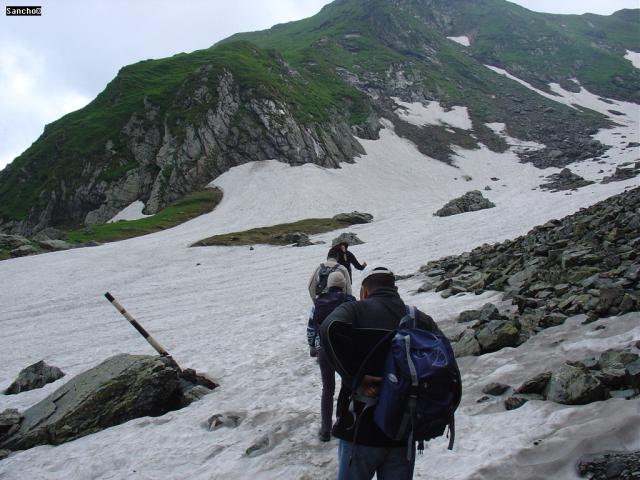
[{"label": "pale overcast sky above the mountain ridge", "polygon": [[[0,16],[0,169],[44,125],[86,105],[127,64],[206,48],[236,32],[317,13],[328,0],[40,0]],[[518,0],[530,10],[609,15],[640,0]]]}]

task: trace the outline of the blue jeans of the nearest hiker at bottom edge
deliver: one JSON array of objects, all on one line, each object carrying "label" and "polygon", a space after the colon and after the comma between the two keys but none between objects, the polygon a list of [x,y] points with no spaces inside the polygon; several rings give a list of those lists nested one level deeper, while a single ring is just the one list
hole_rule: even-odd
[{"label": "blue jeans of the nearest hiker at bottom edge", "polygon": [[415,461],[415,446],[407,460],[407,447],[368,447],[340,440],[338,480],[371,480],[374,474],[378,480],[411,480]]}]

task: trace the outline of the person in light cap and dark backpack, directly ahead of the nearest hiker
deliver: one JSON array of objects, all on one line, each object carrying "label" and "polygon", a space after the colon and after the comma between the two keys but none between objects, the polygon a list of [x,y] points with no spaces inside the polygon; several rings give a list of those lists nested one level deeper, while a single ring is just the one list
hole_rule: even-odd
[{"label": "person in light cap and dark backpack, directly ahead of the nearest hiker", "polygon": [[[331,423],[333,418],[333,395],[336,389],[336,371],[329,362],[320,342],[320,325],[333,310],[344,302],[354,302],[352,295],[344,293],[346,280],[342,272],[331,272],[327,278],[327,291],[314,301],[309,313],[307,325],[307,343],[311,356],[318,357],[320,376],[322,378],[322,397],[320,401],[320,430],[318,438],[322,442],[331,439]],[[342,391],[342,390],[341,390]]]}]

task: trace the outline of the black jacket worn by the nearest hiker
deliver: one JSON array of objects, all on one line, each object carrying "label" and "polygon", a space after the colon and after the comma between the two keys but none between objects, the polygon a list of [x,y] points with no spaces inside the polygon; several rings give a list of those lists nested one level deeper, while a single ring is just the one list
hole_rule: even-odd
[{"label": "black jacket worn by the nearest hiker", "polygon": [[[342,389],[350,390],[353,377],[358,373],[369,352],[390,331],[395,330],[407,313],[404,302],[391,288],[379,288],[369,298],[358,302],[343,303],[329,315],[320,327],[320,338],[325,352],[336,371],[342,377]],[[426,330],[442,334],[431,317],[417,312],[419,325]],[[390,339],[389,339],[390,340]],[[367,375],[382,376],[389,345],[380,345],[365,366]],[[406,441],[393,441],[373,422],[373,409],[364,412],[359,420],[358,435],[354,439],[355,418],[349,412],[349,394],[341,392],[336,414],[338,421],[333,428],[335,437],[372,447],[401,447]],[[344,399],[344,401],[340,401]],[[356,415],[364,405],[354,403]]]}]

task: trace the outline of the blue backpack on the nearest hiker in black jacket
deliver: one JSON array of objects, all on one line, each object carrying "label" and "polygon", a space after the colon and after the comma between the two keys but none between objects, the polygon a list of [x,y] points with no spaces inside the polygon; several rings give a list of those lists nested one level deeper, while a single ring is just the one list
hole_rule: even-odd
[{"label": "blue backpack on the nearest hiker in black jacket", "polygon": [[[374,422],[387,437],[407,441],[409,459],[414,442],[419,442],[421,452],[424,441],[442,436],[447,426],[451,450],[455,438],[454,412],[460,404],[462,381],[449,340],[417,327],[415,307],[408,307],[398,329],[378,345],[389,339],[390,350],[378,398],[356,399],[374,407]],[[362,378],[357,377],[354,386]]]}]

